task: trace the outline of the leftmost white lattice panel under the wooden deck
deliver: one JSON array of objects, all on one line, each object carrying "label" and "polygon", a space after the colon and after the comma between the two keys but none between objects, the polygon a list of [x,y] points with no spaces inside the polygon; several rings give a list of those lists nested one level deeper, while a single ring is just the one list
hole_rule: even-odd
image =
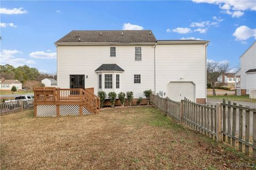
[{"label": "leftmost white lattice panel under the wooden deck", "polygon": [[54,105],[37,105],[37,116],[57,116],[56,106]]}]

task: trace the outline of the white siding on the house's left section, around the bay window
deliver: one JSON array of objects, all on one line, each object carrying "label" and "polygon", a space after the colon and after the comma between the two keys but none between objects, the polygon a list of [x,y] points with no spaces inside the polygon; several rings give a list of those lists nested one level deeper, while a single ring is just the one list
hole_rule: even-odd
[{"label": "white siding on the house's left section, around the bay window", "polygon": [[[116,57],[110,57],[110,46],[116,47]],[[136,45],[138,46],[138,45]],[[146,89],[154,90],[154,46],[141,46],[142,61],[135,61],[135,45],[109,46],[58,46],[58,87],[69,88],[70,74],[84,74],[85,88],[94,87],[98,93],[98,73],[94,71],[101,64],[117,64],[125,71],[120,74],[119,89],[105,89],[110,91],[133,91],[134,97],[143,97]],[[133,75],[141,74],[141,83],[133,83]],[[86,78],[88,75],[88,78]],[[115,88],[115,75],[113,75]],[[102,75],[102,87],[104,86]]]}]

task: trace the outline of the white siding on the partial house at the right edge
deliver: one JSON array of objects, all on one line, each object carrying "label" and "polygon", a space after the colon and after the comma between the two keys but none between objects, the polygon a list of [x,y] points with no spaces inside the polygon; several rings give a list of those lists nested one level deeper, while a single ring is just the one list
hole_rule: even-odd
[{"label": "white siding on the partial house at the right edge", "polygon": [[[245,52],[243,54],[243,56],[241,56],[240,58],[240,65],[241,65],[241,70],[239,71],[240,75],[241,75],[241,85],[240,88],[241,89],[246,89],[246,94],[249,94],[249,85],[247,85],[246,83],[249,82],[249,78],[246,78],[246,71],[250,70],[250,69],[256,69],[256,43],[254,43],[251,48],[249,48],[247,50],[247,52]],[[249,75],[249,77],[251,77]],[[252,81],[250,83],[250,86],[255,87],[256,86],[256,81]]]}]

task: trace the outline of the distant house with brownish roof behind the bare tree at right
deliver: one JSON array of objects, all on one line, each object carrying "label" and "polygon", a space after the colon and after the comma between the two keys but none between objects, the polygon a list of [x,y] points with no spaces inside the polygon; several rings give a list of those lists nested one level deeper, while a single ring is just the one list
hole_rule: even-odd
[{"label": "distant house with brownish roof behind the bare tree at right", "polygon": [[235,88],[235,83],[240,81],[240,77],[235,77],[235,73],[224,73],[218,78],[217,86],[227,86]]}]

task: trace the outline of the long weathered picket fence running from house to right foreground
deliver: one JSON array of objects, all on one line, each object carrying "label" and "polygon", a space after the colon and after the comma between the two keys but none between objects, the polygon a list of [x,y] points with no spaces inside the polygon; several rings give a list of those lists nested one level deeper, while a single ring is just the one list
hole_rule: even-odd
[{"label": "long weathered picket fence running from house to right foreground", "polygon": [[188,99],[173,101],[151,95],[151,104],[175,122],[200,132],[256,159],[256,109],[223,99],[216,105],[196,104]]}]

